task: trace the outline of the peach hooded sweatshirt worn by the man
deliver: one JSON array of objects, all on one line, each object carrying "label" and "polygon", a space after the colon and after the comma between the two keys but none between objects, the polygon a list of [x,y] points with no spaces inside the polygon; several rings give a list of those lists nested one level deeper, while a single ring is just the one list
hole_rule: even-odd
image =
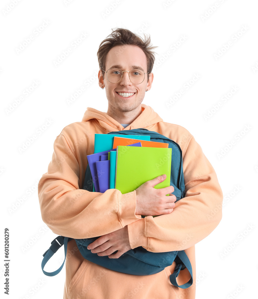
[{"label": "peach hooded sweatshirt worn by the man", "polygon": [[[147,276],[105,269],[85,260],[72,240],[67,248],[65,299],[195,298],[194,245],[219,224],[221,210],[212,212],[221,206],[222,190],[213,167],[185,128],[163,122],[144,104],[141,115],[125,129],[137,128],[165,135],[182,149],[186,195],[176,202],[171,214],[154,218],[136,215],[135,191],[122,194],[116,189],[105,193],[81,189],[87,155],[94,152],[94,134],[124,129],[105,112],[87,108],[82,121],[66,126],[54,142],[52,161],[38,186],[42,219],[53,233],[75,239],[101,236],[128,225],[131,248],[142,246],[152,252],[185,250],[193,267],[194,283],[188,289],[171,285],[169,275],[175,262]],[[189,279],[185,271],[179,274],[179,284]]]}]

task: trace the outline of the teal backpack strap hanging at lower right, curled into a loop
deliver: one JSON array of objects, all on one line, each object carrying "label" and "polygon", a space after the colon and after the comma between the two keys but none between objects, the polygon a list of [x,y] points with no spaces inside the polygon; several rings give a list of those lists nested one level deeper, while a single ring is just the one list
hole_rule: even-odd
[{"label": "teal backpack strap hanging at lower right, curled into a loop", "polygon": [[[190,263],[190,261],[188,259],[188,256],[186,255],[185,251],[183,251],[183,250],[178,251],[176,259],[177,259],[177,257],[179,257],[178,260],[180,260],[181,263],[177,264],[177,266],[175,268],[175,271],[174,271],[173,274],[170,275],[169,280],[173,284],[173,286],[177,286],[177,287],[179,287],[181,289],[187,289],[187,288],[189,288],[189,286],[191,286],[193,284],[193,270],[192,270],[192,266],[191,266],[191,263]],[[180,270],[183,270],[185,268],[187,268],[187,270],[191,274],[191,278],[189,279],[189,281],[187,283],[184,283],[181,286],[179,286],[178,283],[176,282],[176,277],[179,275]]]}]

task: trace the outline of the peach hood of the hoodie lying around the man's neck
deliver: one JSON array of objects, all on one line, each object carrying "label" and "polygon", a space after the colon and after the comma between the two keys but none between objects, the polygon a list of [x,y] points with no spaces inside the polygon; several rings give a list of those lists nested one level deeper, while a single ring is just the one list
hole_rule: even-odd
[{"label": "peach hood of the hoodie lying around the man's neck", "polygon": [[111,116],[107,115],[106,112],[101,112],[93,108],[87,108],[85,111],[82,121],[96,120],[99,125],[107,132],[111,131],[122,131],[132,129],[151,129],[156,123],[163,121],[162,118],[150,107],[142,104],[142,113],[126,128],[121,126],[119,122],[114,120]]}]

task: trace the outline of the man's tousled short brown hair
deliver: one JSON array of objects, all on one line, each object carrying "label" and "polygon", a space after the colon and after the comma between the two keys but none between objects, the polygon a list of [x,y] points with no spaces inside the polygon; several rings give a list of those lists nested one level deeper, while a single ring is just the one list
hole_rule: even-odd
[{"label": "man's tousled short brown hair", "polygon": [[[99,45],[99,50],[97,52],[99,68],[105,70],[106,57],[111,48],[121,45],[136,45],[145,53],[147,58],[147,73],[151,73],[155,60],[155,52],[151,50],[157,47],[151,44],[150,36],[147,36],[144,33],[144,37],[145,39],[124,28],[116,28],[116,30],[113,30],[113,32]],[[104,77],[103,71],[102,76]],[[149,74],[147,78],[149,80]]]}]

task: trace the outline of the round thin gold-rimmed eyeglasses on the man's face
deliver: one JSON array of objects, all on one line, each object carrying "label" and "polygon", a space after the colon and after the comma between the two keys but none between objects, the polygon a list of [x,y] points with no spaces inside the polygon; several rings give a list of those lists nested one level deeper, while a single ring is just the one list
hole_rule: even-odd
[{"label": "round thin gold-rimmed eyeglasses on the man's face", "polygon": [[[104,71],[104,70],[102,70]],[[145,73],[143,70],[134,69],[129,71],[121,71],[119,68],[109,68],[107,71],[104,71],[106,73],[107,79],[110,83],[118,83],[122,77],[124,72],[129,73],[129,79],[133,84],[140,84],[145,79]]]}]

